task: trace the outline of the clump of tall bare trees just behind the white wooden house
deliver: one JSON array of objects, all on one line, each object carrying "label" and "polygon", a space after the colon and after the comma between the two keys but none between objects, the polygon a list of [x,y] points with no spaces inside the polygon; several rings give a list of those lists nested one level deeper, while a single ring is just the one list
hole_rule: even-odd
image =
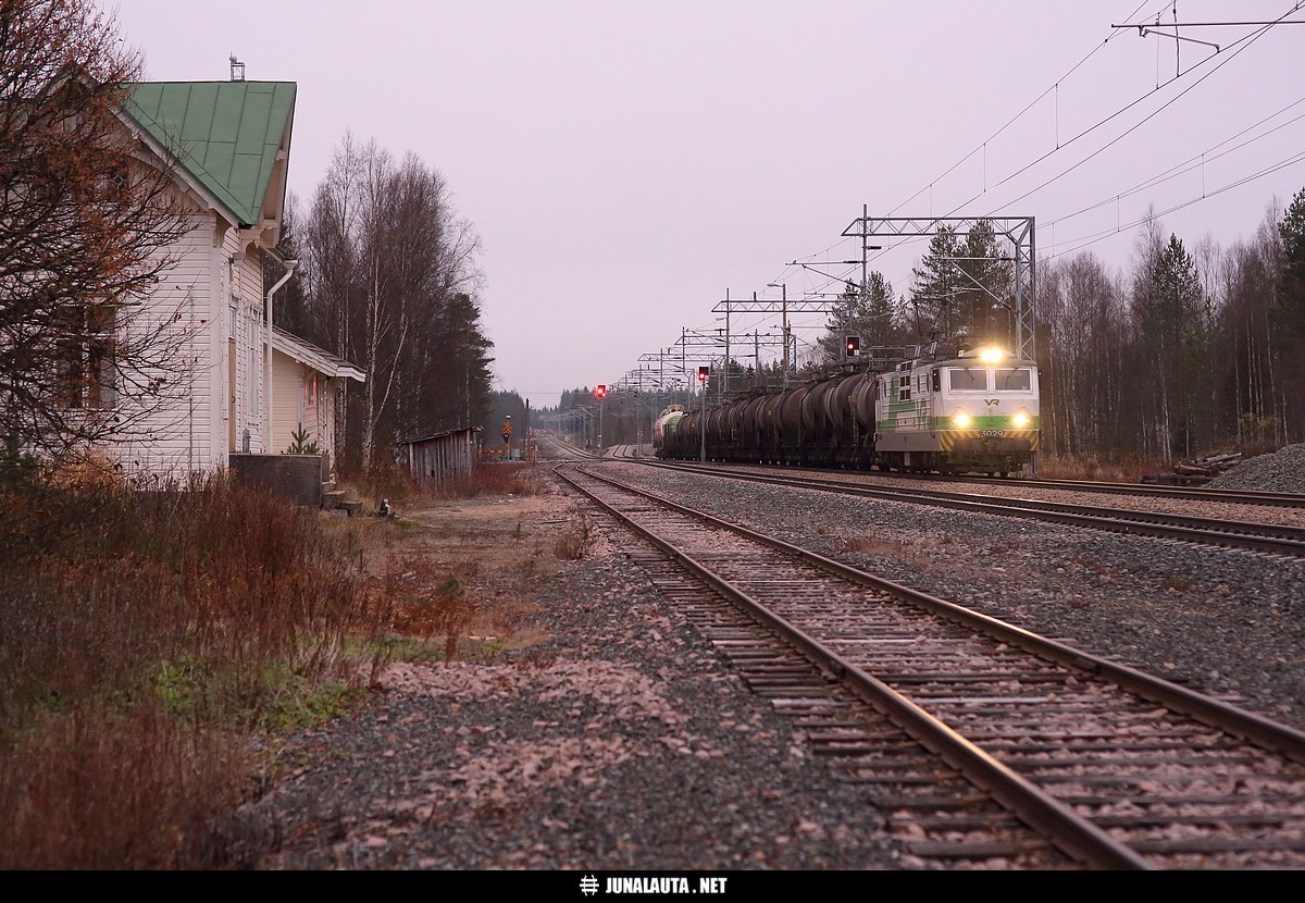
[{"label": "clump of tall bare trees just behind the white wooden house", "polygon": [[480,244],[448,184],[375,141],[337,147],[304,231],[308,309],[329,348],[367,371],[338,435],[371,468],[382,449],[433,427],[471,425],[489,393],[489,343],[472,300]]}]

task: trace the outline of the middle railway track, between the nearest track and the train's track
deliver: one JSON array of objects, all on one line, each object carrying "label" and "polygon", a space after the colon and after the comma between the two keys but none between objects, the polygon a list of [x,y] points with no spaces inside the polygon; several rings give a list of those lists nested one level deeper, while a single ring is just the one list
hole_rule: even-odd
[{"label": "middle railway track, between the nearest track and the train's track", "polygon": [[886,501],[938,505],[983,514],[1031,518],[1069,526],[1108,530],[1112,532],[1176,539],[1205,545],[1241,548],[1291,557],[1305,557],[1305,528],[1275,523],[1228,521],[1144,512],[1128,508],[1077,505],[1032,498],[984,496],[971,492],[947,492],[903,485],[878,485],[844,479],[809,476],[806,474],[735,468],[724,465],[685,465],[671,462],[643,463],[724,479],[769,483],[822,492],[856,495]]}]

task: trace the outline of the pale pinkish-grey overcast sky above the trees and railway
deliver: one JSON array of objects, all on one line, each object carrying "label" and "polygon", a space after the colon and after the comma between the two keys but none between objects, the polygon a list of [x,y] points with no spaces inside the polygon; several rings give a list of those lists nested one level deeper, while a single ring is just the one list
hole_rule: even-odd
[{"label": "pale pinkish-grey overcast sky above the trees and railway", "polygon": [[[496,388],[536,408],[723,328],[727,291],[859,278],[814,264],[860,256],[840,234],[863,205],[1032,217],[1040,258],[1122,269],[1148,207],[1228,247],[1305,187],[1305,25],[1111,29],[1172,23],[1159,0],[103,4],[150,80],[226,80],[234,54],[298,82],[303,204],[346,130],[438,170],[484,245]],[[1177,22],[1298,5],[1184,0]],[[900,294],[923,244],[886,244]],[[820,322],[793,317],[800,344]]]}]

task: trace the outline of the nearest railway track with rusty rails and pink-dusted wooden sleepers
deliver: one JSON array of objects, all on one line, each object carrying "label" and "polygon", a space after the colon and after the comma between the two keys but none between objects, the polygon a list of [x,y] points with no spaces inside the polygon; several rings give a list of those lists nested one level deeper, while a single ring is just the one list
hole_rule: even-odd
[{"label": "nearest railway track with rusty rails and pink-dusted wooden sleepers", "polygon": [[1305,865],[1305,733],[600,470],[559,474],[660,549],[632,555],[891,813],[911,856],[953,868]]}]

